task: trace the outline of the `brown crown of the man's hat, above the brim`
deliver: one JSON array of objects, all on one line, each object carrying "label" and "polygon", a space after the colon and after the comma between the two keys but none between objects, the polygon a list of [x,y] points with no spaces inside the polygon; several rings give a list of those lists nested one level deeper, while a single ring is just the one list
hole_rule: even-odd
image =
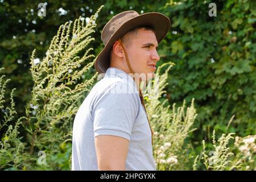
[{"label": "brown crown of the man's hat, above the brim", "polygon": [[104,46],[108,43],[109,39],[114,35],[114,33],[122,26],[123,23],[128,20],[134,18],[135,16],[139,16],[136,11],[124,11],[113,16],[112,19],[104,26],[101,33],[101,40],[104,43]]}]

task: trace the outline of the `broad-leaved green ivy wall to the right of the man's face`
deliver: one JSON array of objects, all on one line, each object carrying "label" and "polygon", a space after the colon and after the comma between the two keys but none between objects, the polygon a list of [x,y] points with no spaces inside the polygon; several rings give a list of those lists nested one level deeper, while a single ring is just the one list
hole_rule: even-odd
[{"label": "broad-leaved green ivy wall to the right of the man's face", "polygon": [[191,134],[196,151],[209,131],[245,137],[256,131],[255,1],[171,1],[162,13],[172,28],[160,46],[163,59],[175,63],[168,77],[167,97],[181,105],[196,100],[197,131]]}]

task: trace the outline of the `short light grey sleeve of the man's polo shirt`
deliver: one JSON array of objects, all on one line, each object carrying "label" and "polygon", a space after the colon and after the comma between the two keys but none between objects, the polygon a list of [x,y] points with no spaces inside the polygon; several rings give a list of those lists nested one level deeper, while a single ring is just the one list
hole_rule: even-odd
[{"label": "short light grey sleeve of the man's polo shirt", "polygon": [[94,137],[98,135],[114,135],[130,141],[133,124],[139,111],[136,93],[115,92],[126,86],[117,82],[108,92],[98,97],[93,109]]}]

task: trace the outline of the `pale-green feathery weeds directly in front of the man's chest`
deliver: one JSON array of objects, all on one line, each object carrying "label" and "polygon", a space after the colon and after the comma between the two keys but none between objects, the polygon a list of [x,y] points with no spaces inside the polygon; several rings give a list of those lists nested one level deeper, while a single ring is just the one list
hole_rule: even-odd
[{"label": "pale-green feathery weeds directly in front of the man's chest", "polygon": [[[168,68],[161,75],[161,69],[168,64]],[[191,129],[191,126],[197,114],[194,101],[191,107],[187,107],[187,111],[185,111],[185,101],[183,106],[177,109],[175,104],[171,109],[167,99],[160,101],[162,95],[166,93],[164,89],[168,85],[168,72],[174,66],[172,63],[168,64],[158,67],[155,79],[148,82],[148,85],[154,82],[152,88],[147,86],[146,94],[144,94],[148,118],[154,130],[154,158],[156,168],[159,170],[189,169],[184,162],[187,158],[185,153],[188,151],[184,139],[195,130]]]}]

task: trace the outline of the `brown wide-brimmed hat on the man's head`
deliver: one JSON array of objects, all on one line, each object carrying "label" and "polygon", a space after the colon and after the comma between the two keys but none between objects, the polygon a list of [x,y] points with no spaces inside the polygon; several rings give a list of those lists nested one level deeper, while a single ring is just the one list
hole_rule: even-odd
[{"label": "brown wide-brimmed hat on the man's head", "polygon": [[171,27],[170,19],[161,13],[144,13],[139,15],[136,11],[124,11],[113,16],[104,26],[101,40],[105,47],[96,57],[94,64],[99,73],[105,73],[110,66],[110,51],[115,41],[130,30],[140,26],[151,26],[155,29],[158,43],[163,40]]}]

